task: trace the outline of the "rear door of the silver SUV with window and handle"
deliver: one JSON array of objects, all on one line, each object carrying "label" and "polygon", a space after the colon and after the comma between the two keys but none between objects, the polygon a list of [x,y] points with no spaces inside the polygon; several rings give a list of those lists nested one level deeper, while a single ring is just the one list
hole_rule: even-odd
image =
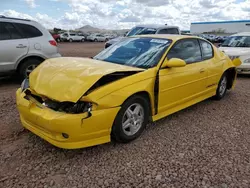
[{"label": "rear door of the silver SUV with window and handle", "polygon": [[28,40],[10,22],[0,22],[0,72],[15,69],[17,61],[28,53]]}]

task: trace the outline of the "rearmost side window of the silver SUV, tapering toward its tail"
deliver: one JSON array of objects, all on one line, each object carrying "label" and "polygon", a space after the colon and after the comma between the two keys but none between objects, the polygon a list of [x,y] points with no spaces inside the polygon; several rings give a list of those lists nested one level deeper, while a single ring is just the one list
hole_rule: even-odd
[{"label": "rearmost side window of the silver SUV, tapering toward its tail", "polygon": [[43,34],[37,28],[32,25],[15,23],[15,25],[21,30],[26,38],[40,37]]}]

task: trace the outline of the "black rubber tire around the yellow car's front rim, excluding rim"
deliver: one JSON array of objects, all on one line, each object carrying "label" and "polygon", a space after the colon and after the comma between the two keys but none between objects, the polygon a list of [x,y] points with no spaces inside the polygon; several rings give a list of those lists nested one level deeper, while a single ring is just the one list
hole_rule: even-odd
[{"label": "black rubber tire around the yellow car's front rim, excluding rim", "polygon": [[[123,130],[122,121],[123,121],[123,117],[125,115],[126,110],[130,106],[132,106],[133,104],[140,104],[141,105],[141,107],[144,110],[144,118],[143,118],[143,123],[142,123],[140,129],[133,135],[127,135]],[[114,139],[117,142],[128,143],[128,142],[131,142],[131,141],[135,140],[136,138],[138,138],[142,134],[147,123],[149,122],[149,116],[150,116],[150,107],[149,106],[150,105],[149,105],[148,100],[145,97],[140,96],[140,95],[134,95],[134,96],[130,97],[129,99],[127,99],[122,104],[120,111],[116,115],[114,124],[112,126],[112,131],[111,131],[112,139]]]}]

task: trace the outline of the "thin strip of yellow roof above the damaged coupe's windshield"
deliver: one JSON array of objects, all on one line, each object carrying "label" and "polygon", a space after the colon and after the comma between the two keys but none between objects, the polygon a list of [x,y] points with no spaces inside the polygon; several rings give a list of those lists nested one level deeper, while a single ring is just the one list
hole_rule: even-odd
[{"label": "thin strip of yellow roof above the damaged coupe's windshield", "polygon": [[140,38],[160,38],[160,39],[171,39],[173,41],[177,41],[180,39],[190,39],[190,38],[195,38],[195,39],[202,39],[197,36],[189,36],[189,35],[167,35],[167,34],[154,34],[154,35],[136,35],[133,37],[140,37]]}]

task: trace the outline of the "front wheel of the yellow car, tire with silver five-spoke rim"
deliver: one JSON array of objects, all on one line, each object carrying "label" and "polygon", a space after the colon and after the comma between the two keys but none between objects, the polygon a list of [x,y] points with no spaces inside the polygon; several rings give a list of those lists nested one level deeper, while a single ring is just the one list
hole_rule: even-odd
[{"label": "front wheel of the yellow car, tire with silver five-spoke rim", "polygon": [[[135,95],[127,99],[121,106],[121,109],[115,118],[112,126],[111,137],[115,141],[121,143],[128,143],[138,138],[149,122],[149,106],[148,100],[140,95]],[[128,109],[135,113],[133,109],[135,110],[136,107],[139,109],[137,110],[139,111],[139,113],[137,113],[139,116],[132,117],[135,115],[128,113]],[[131,118],[129,118],[128,114],[132,115]],[[138,124],[136,123],[135,125],[136,121]]]}]

